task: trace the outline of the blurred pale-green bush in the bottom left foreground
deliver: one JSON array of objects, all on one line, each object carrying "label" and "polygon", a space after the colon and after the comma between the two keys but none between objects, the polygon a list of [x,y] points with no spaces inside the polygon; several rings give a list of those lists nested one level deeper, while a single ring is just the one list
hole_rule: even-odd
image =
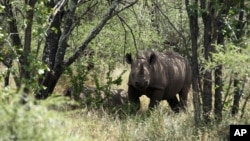
[{"label": "blurred pale-green bush in the bottom left foreground", "polygon": [[[1,89],[0,140],[4,141],[56,141],[77,140],[65,136],[66,122],[60,113],[48,110],[43,104],[34,104],[32,98],[20,104],[20,95],[12,90]],[[48,103],[48,100],[46,101]],[[60,102],[53,101],[53,103]],[[51,102],[50,102],[51,103]]]}]

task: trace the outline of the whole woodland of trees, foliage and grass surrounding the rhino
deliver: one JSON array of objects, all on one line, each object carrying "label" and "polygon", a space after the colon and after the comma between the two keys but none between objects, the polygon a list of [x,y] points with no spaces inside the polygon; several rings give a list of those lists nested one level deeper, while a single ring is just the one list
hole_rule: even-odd
[{"label": "whole woodland of trees, foliage and grass surrounding the rhino", "polygon": [[[250,123],[247,0],[0,4],[0,140],[228,140]],[[147,49],[189,59],[186,113],[106,105],[126,91],[124,55]]]}]

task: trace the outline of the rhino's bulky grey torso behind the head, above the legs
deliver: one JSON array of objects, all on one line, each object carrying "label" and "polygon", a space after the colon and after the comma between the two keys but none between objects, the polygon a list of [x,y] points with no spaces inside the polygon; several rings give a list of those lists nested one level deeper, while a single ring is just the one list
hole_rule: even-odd
[{"label": "rhino's bulky grey torso behind the head, above the legs", "polygon": [[178,93],[188,79],[188,62],[174,52],[157,53],[157,61],[152,66],[149,87],[165,90],[168,96]]}]

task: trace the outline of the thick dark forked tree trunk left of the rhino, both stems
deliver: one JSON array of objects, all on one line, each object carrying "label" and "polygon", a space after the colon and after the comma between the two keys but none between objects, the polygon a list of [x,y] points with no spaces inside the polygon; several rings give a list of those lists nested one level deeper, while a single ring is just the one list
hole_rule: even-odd
[{"label": "thick dark forked tree trunk left of the rhino, both stems", "polygon": [[[63,4],[61,3],[62,7]],[[50,7],[54,7],[56,3],[51,1]],[[62,75],[65,66],[63,66],[64,55],[68,47],[68,38],[72,30],[74,29],[74,14],[77,8],[77,0],[72,0],[69,3],[69,9],[64,12],[60,8],[55,15],[51,16],[51,25],[48,29],[48,36],[46,37],[46,44],[44,49],[43,61],[49,65],[50,71],[45,73],[41,85],[45,86],[45,89],[41,89],[36,95],[37,99],[46,99],[53,92],[60,76]],[[63,16],[63,17],[62,17]],[[64,28],[61,32],[62,18],[64,18]],[[56,31],[55,31],[56,29]]]}]

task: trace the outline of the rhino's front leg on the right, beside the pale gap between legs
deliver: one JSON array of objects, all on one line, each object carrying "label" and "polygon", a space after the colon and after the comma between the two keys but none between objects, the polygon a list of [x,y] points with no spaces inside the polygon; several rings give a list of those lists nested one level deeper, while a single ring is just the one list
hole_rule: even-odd
[{"label": "rhino's front leg on the right, beside the pale gap between legs", "polygon": [[150,94],[147,94],[147,95],[150,98],[149,107],[154,107],[163,99],[164,91],[163,90],[153,90],[150,92]]}]

